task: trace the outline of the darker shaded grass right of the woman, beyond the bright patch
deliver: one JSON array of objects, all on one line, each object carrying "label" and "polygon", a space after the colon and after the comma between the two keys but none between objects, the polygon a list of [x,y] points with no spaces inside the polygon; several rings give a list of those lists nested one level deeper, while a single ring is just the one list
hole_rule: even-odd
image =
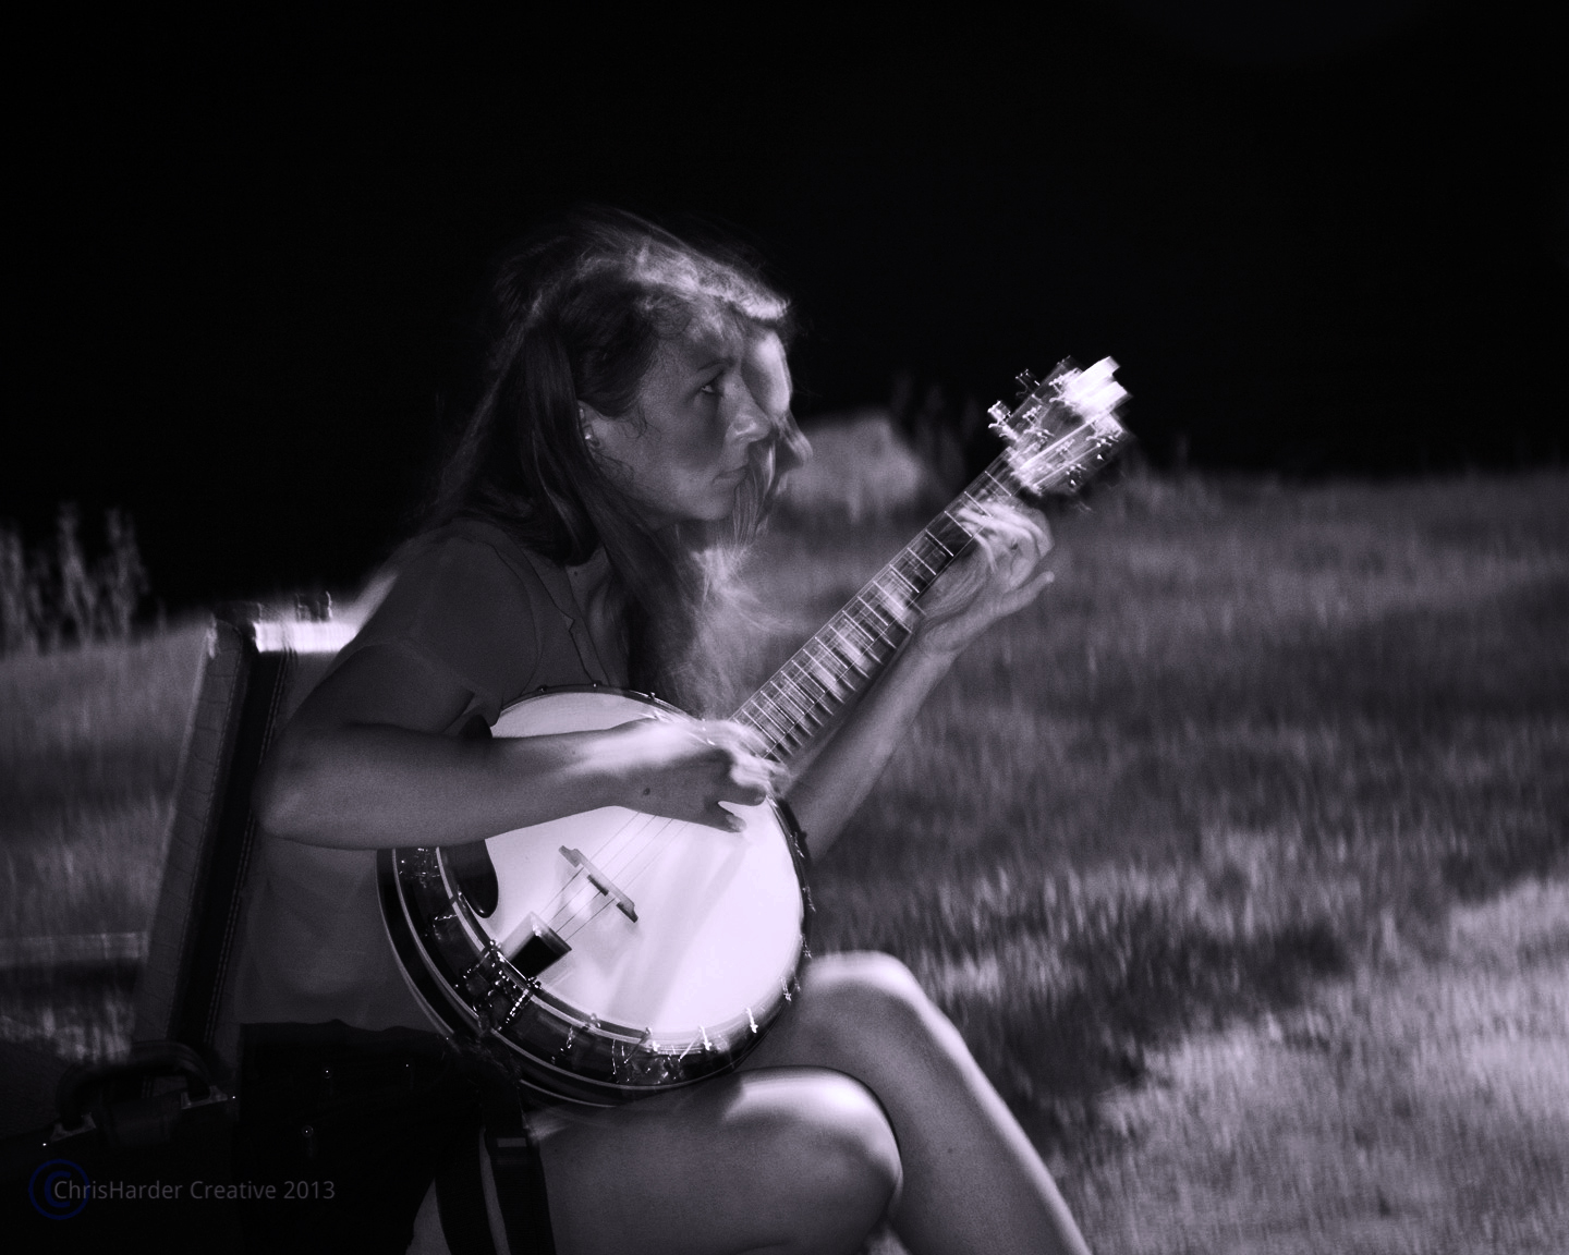
[{"label": "darker shaded grass right of the woman, beyond the bright patch", "polygon": [[[1563,866],[1561,475],[1133,480],[977,642],[816,872],[827,948],[899,954],[1037,1136],[1183,1032],[1296,1002]],[[772,541],[814,624],[902,535]],[[780,645],[780,649],[784,646]]]}]

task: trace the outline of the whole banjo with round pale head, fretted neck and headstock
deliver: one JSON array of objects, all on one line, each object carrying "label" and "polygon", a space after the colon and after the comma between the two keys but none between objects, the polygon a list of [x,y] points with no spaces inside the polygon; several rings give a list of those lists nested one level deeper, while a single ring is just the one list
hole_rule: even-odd
[{"label": "whole banjo with round pale head, fretted neck and headstock", "polygon": [[[1018,376],[1023,400],[990,409],[1004,452],[734,712],[763,756],[788,764],[893,659],[921,595],[973,540],[962,507],[1073,493],[1111,460],[1128,438],[1114,370],[1105,358]],[[491,734],[650,715],[686,718],[642,693],[555,689],[508,706]],[[383,918],[417,998],[551,1098],[623,1103],[734,1067],[800,990],[811,893],[783,800],[726,806],[742,831],[606,806],[474,846],[378,852]]]}]

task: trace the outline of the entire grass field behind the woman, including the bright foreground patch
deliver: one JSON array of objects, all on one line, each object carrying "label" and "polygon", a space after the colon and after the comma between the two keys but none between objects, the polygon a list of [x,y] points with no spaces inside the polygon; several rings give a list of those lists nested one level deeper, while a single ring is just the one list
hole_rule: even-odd
[{"label": "entire grass field behind the woman, including the bright foreground patch", "polygon": [[[905,532],[769,540],[758,665]],[[1098,1250],[1563,1249],[1569,478],[1136,478],[1058,537],[817,868],[819,949],[915,968]],[[0,935],[146,927],[198,657],[0,662]]]}]

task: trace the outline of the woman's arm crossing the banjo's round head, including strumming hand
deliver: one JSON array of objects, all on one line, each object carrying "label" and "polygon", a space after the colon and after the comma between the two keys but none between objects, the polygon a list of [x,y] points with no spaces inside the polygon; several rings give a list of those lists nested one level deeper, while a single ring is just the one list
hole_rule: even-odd
[{"label": "woman's arm crossing the banjo's round head, including strumming hand", "polygon": [[270,833],[312,846],[447,846],[596,806],[734,828],[772,769],[731,723],[643,718],[598,733],[460,740],[469,693],[416,649],[375,645],[315,689],[257,781]]}]

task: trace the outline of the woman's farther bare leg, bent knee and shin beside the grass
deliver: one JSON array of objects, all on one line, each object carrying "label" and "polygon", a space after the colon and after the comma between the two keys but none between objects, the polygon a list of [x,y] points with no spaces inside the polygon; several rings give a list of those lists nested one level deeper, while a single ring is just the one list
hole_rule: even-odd
[{"label": "woman's farther bare leg, bent knee and shin beside the grass", "polygon": [[816,960],[742,1075],[791,1065],[843,1071],[882,1101],[904,1167],[894,1230],[913,1255],[1089,1253],[1025,1131],[897,960]]}]

